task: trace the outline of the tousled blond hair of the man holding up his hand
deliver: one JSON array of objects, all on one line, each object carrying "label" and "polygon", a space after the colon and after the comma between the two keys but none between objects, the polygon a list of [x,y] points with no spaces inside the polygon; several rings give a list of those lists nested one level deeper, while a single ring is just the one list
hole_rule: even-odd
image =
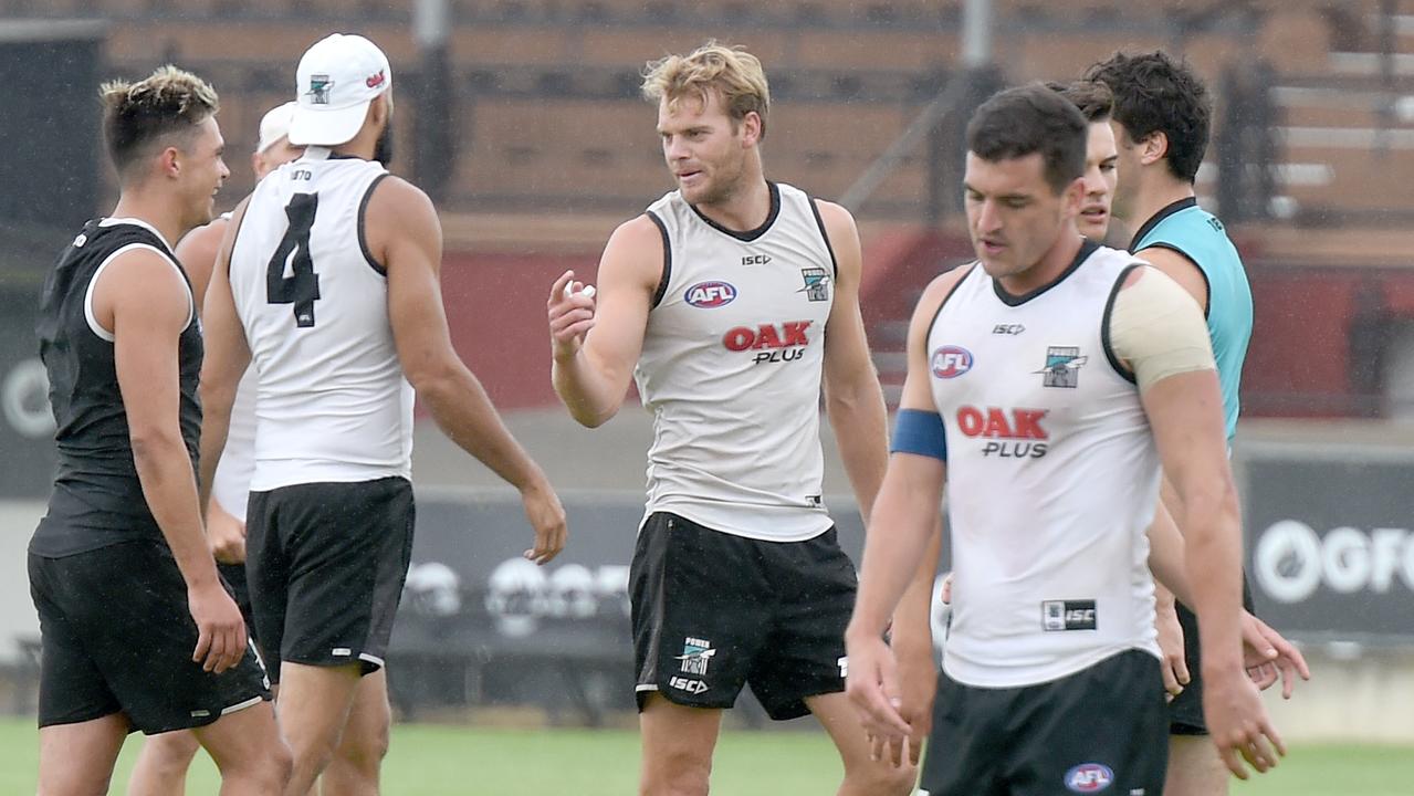
[{"label": "tousled blond hair of the man holding up his hand", "polygon": [[683,98],[706,105],[711,92],[717,92],[734,123],[748,113],[759,116],[761,137],[766,136],[771,89],[761,59],[744,48],[708,41],[689,55],[650,61],[643,71],[643,99],[666,99],[669,109],[676,109]]}]

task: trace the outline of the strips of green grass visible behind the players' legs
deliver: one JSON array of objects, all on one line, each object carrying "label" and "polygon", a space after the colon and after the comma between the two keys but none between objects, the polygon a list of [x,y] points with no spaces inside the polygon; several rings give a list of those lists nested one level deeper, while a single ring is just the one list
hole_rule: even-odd
[{"label": "strips of green grass visible behind the players' legs", "polygon": [[[130,738],[113,779],[126,793],[141,741]],[[0,793],[34,793],[38,761],[30,721],[0,722]],[[489,730],[400,725],[383,768],[387,796],[625,796],[633,793],[638,737],[622,730]],[[718,747],[713,793],[829,796],[840,765],[814,732],[727,732]],[[216,793],[216,772],[201,756],[188,786]],[[1414,748],[1297,747],[1273,773],[1237,783],[1236,796],[1408,796]]]}]

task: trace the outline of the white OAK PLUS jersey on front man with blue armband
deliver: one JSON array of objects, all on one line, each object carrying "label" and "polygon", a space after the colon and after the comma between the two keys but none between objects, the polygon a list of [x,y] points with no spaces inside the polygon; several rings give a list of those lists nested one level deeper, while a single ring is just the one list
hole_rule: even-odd
[{"label": "white OAK PLUS jersey on front man with blue armband", "polygon": [[1086,243],[1025,297],[974,264],[929,328],[954,571],[943,667],[959,683],[1019,687],[1158,655],[1145,530],[1159,462],[1102,329],[1135,262]]}]

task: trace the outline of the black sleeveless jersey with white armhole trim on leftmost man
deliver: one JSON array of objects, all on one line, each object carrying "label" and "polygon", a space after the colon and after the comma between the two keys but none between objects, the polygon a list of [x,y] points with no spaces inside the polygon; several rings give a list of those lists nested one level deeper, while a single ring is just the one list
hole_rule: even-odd
[{"label": "black sleeveless jersey with white armhole trim on leftmost man", "polygon": [[[154,249],[187,279],[156,229],[136,219],[90,221],[61,254],[40,300],[40,356],[49,376],[58,468],[49,510],[30,540],[38,556],[85,553],[136,539],[161,540],[133,462],[117,387],[113,335],[92,315],[90,284],[116,256]],[[191,281],[187,281],[191,291]],[[195,307],[194,307],[195,310]],[[178,342],[181,434],[192,467],[201,434],[201,328],[192,311]]]}]

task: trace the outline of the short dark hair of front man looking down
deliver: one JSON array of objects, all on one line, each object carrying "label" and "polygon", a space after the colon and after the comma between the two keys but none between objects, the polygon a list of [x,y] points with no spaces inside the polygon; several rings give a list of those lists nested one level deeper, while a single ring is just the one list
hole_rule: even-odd
[{"label": "short dark hair of front man looking down", "polygon": [[995,163],[1041,153],[1046,184],[1060,194],[1085,175],[1089,123],[1068,99],[1029,83],[997,92],[967,123],[967,151]]}]

